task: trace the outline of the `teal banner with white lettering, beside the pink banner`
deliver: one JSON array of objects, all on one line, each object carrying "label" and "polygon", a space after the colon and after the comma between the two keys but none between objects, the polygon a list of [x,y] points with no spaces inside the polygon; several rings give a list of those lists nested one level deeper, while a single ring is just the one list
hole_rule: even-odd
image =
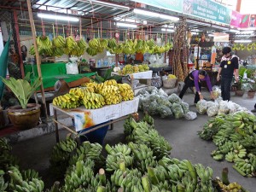
[{"label": "teal banner with white lettering, beside the pink banner", "polygon": [[230,25],[231,9],[210,0],[183,0],[183,14]]}]

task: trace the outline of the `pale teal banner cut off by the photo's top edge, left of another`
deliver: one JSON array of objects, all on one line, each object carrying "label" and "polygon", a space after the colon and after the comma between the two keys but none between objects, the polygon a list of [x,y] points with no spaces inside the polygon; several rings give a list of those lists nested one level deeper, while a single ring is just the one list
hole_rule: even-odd
[{"label": "pale teal banner cut off by the photo's top edge, left of another", "polygon": [[183,12],[183,0],[132,0],[133,2],[147,4],[156,8]]}]

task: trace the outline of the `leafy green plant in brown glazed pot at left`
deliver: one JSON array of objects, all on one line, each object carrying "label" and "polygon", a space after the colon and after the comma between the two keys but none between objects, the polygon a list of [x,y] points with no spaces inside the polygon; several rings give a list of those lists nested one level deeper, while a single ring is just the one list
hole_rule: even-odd
[{"label": "leafy green plant in brown glazed pot at left", "polygon": [[24,79],[3,79],[3,83],[15,94],[20,105],[8,108],[8,116],[13,125],[20,130],[26,130],[38,124],[40,117],[40,105],[28,103],[34,91],[41,84],[41,79],[36,79],[33,84],[29,83],[30,73]]}]

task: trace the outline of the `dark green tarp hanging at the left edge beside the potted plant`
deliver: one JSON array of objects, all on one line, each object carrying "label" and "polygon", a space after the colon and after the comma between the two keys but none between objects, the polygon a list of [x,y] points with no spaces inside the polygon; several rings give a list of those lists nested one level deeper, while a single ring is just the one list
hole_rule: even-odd
[{"label": "dark green tarp hanging at the left edge beside the potted plant", "polygon": [[[9,55],[9,39],[7,43],[4,45],[3,52],[0,56],[0,76],[3,78],[6,77],[8,55]],[[4,84],[3,84],[3,81],[0,79],[0,101],[2,100],[2,97],[3,97],[3,88],[4,88]]]}]

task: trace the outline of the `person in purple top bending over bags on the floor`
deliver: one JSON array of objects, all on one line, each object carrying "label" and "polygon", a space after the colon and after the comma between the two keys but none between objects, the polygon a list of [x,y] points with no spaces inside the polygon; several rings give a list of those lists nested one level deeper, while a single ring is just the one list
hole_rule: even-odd
[{"label": "person in purple top bending over bags on the floor", "polygon": [[185,94],[186,90],[188,90],[189,87],[195,87],[196,93],[194,103],[197,103],[199,102],[199,100],[202,100],[204,97],[201,95],[201,81],[207,81],[208,90],[211,92],[211,97],[213,98],[212,84],[205,70],[195,70],[189,73],[189,75],[184,80],[185,84],[183,86],[183,90],[179,94],[179,97],[182,99],[183,95]]}]

